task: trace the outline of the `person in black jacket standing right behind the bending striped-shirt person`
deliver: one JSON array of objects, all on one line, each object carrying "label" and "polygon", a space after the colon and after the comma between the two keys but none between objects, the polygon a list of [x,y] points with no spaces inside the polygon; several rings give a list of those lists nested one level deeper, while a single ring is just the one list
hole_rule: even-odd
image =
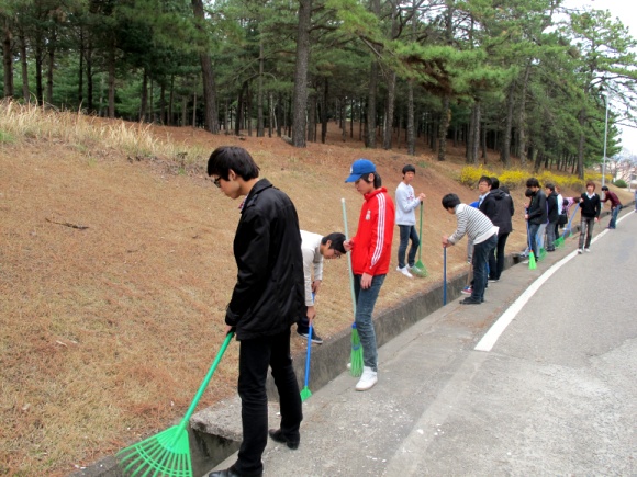
[{"label": "person in black jacket standing right behind the bending striped-shirt person", "polygon": [[498,282],[504,270],[504,247],[509,234],[513,230],[511,217],[515,213],[513,200],[511,195],[500,189],[500,181],[498,178],[480,178],[480,182],[489,185],[489,193],[482,200],[479,208],[482,213],[491,219],[498,230],[498,245],[491,249],[489,253],[489,281]]}]

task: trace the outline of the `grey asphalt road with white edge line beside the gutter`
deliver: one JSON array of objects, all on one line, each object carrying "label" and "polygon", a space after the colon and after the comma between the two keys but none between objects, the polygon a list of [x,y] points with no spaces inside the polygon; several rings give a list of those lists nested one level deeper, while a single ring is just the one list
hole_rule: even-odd
[{"label": "grey asphalt road with white edge line beside the gutter", "polygon": [[507,270],[485,304],[426,317],[381,348],[371,390],[343,373],[314,393],[301,446],[270,442],[266,476],[636,476],[636,237],[630,211],[591,253],[571,239],[536,271]]}]

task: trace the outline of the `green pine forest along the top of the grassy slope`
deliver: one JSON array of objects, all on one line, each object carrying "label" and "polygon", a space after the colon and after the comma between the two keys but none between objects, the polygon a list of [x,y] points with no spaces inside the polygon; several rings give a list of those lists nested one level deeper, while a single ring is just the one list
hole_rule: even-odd
[{"label": "green pine forest along the top of the grassy slope", "polygon": [[0,0],[0,20],[4,98],[297,147],[335,118],[368,148],[452,140],[580,179],[635,159],[636,42],[561,0]]}]

